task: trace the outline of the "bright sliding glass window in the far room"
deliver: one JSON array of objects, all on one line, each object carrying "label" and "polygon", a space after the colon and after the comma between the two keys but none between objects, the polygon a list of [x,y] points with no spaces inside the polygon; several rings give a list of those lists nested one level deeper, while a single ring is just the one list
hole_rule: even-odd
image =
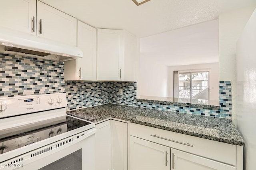
[{"label": "bright sliding glass window in the far room", "polygon": [[[185,99],[209,99],[209,71],[178,73],[178,97]],[[175,79],[174,79],[175,81]],[[174,88],[177,88],[174,86]],[[175,91],[175,89],[174,89]]]}]

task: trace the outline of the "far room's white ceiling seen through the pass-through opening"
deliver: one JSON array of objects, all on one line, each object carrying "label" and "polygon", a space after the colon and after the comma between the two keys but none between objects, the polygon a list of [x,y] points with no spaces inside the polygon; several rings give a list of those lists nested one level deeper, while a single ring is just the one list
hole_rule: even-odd
[{"label": "far room's white ceiling seen through the pass-through opening", "polygon": [[218,20],[208,21],[141,38],[140,56],[167,66],[216,63],[218,37]]}]

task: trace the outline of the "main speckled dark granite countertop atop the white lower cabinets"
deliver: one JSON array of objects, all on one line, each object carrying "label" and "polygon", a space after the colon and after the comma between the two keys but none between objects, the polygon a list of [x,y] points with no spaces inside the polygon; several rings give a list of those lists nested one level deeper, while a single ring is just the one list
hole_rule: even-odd
[{"label": "main speckled dark granite countertop atop the white lower cabinets", "polygon": [[116,118],[149,127],[244,146],[244,140],[231,119],[115,104],[68,111],[67,114],[94,123],[108,118]]}]

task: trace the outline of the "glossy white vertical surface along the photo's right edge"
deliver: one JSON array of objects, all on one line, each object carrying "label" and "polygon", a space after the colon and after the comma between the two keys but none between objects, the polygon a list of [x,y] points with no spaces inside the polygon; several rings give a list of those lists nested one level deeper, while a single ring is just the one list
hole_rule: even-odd
[{"label": "glossy white vertical surface along the photo's right edge", "polygon": [[237,127],[245,141],[244,170],[256,158],[256,10],[237,43]]}]

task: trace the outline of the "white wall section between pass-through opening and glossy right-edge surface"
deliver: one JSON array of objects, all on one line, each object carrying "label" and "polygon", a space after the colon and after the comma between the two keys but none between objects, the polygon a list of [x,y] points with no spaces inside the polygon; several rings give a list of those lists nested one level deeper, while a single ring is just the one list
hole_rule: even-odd
[{"label": "white wall section between pass-through opening and glossy right-edge surface", "polygon": [[256,6],[219,16],[220,81],[232,83],[232,120],[236,125],[236,42]]}]

